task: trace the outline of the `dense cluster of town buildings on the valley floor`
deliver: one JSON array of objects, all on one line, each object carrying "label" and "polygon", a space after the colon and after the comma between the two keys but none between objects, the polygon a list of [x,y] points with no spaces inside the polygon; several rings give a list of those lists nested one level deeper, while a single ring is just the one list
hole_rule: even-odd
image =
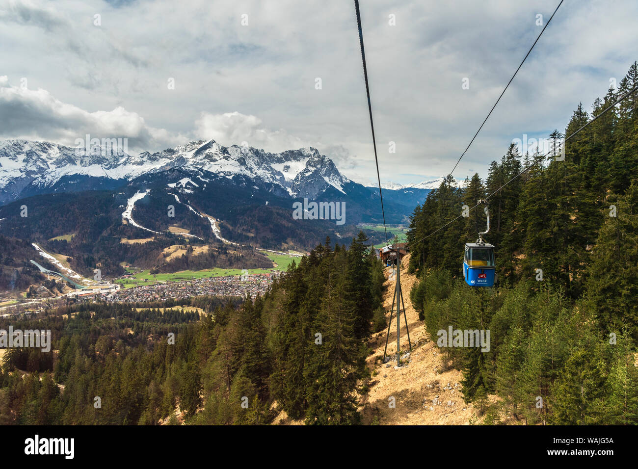
[{"label": "dense cluster of town buildings on the valley floor", "polygon": [[101,299],[112,302],[157,301],[169,298],[182,299],[198,295],[245,296],[263,295],[270,287],[272,279],[279,272],[267,274],[249,274],[246,276],[227,276],[198,278],[186,281],[167,281],[155,285],[143,285],[134,288],[122,288]]}]

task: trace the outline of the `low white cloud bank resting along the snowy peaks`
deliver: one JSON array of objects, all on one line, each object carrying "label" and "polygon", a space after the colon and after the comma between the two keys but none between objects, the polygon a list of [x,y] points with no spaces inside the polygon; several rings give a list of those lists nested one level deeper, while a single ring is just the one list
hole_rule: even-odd
[{"label": "low white cloud bank resting along the snowy peaks", "polygon": [[[183,145],[190,140],[213,139],[230,146],[248,142],[268,151],[284,151],[310,145],[285,130],[269,130],[262,119],[240,112],[211,114],[202,112],[195,121],[195,131],[175,133],[148,126],[144,117],[118,106],[113,110],[88,112],[64,103],[44,89],[31,90],[11,86],[6,75],[0,76],[0,136],[50,140],[71,145],[89,133],[96,138],[128,138],[135,151],[155,151]],[[338,147],[339,154],[347,153]]]}]

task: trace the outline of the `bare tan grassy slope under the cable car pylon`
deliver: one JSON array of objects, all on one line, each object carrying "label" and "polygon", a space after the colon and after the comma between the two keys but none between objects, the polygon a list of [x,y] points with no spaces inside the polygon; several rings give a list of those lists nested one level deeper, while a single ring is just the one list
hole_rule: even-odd
[{"label": "bare tan grassy slope under the cable car pylon", "polygon": [[[383,364],[383,348],[387,329],[375,334],[370,340],[373,348],[367,363],[373,371],[369,394],[364,398],[362,408],[364,424],[380,425],[466,425],[475,417],[475,410],[463,401],[461,392],[461,371],[447,369],[436,343],[426,336],[425,324],[419,320],[410,301],[410,289],[417,281],[407,272],[409,255],[401,262],[401,288],[408,319],[408,329],[412,340],[412,352],[406,356],[408,330],[403,312],[400,322],[400,350],[403,366],[396,368],[396,313],[392,315],[387,354],[393,360]],[[383,307],[386,311],[392,305],[394,278],[388,279],[386,272]],[[396,305],[394,306],[396,311]],[[389,318],[389,313],[386,318]],[[391,399],[394,398],[394,399]],[[394,407],[392,406],[394,403]]]}]

